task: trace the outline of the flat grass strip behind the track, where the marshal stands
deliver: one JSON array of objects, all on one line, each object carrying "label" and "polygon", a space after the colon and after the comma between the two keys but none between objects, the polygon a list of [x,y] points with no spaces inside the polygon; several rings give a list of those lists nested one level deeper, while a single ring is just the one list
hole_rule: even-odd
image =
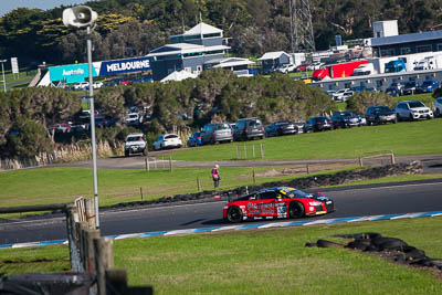
[{"label": "flat grass strip behind the track, where the marshal stands", "polygon": [[[221,167],[220,189],[252,186],[253,170],[256,183],[293,179],[294,175],[261,176],[282,167],[227,168]],[[299,168],[301,169],[301,168]],[[304,169],[304,167],[302,167]],[[312,172],[315,171],[312,167]],[[323,168],[327,169],[327,168]],[[334,168],[333,171],[336,171]],[[324,171],[323,171],[324,172]],[[305,171],[299,171],[306,175]],[[314,175],[314,173],[312,173]],[[164,196],[197,191],[197,178],[202,190],[213,190],[211,168],[143,169],[98,169],[98,197],[101,206],[158,199]],[[71,202],[83,196],[93,197],[92,169],[44,168],[4,171],[0,173],[0,207]],[[25,183],[25,186],[23,186]]]}]

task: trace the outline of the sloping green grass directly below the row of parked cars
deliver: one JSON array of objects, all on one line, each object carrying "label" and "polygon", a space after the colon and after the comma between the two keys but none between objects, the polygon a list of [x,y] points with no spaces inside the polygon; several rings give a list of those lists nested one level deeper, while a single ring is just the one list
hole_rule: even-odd
[{"label": "sloping green grass directly below the row of parked cars", "polygon": [[[236,158],[236,146],[264,146],[265,160],[338,159],[392,150],[396,156],[442,154],[442,119],[291,135],[263,140],[204,146],[173,151],[177,160],[214,161]],[[240,150],[243,148],[241,147]]]}]

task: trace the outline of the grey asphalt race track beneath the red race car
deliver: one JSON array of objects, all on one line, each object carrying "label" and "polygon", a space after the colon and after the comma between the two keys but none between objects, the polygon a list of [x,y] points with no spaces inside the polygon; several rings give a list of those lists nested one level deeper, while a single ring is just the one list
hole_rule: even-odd
[{"label": "grey asphalt race track beneath the red race car", "polygon": [[[327,215],[303,220],[442,210],[442,180],[355,186],[319,191],[335,200],[337,210]],[[213,201],[102,212],[101,233],[105,236],[230,225],[231,223],[222,220],[224,203]],[[66,239],[65,226],[64,215],[0,220],[0,245]]]}]

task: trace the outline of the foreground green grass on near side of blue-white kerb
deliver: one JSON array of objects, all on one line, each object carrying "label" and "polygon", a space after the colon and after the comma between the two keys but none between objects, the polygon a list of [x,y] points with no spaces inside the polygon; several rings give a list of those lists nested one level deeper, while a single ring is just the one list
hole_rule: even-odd
[{"label": "foreground green grass on near side of blue-white kerb", "polygon": [[[345,249],[305,247],[337,233],[375,231],[442,257],[442,218],[232,231],[114,242],[130,286],[156,294],[440,294],[440,272]],[[345,242],[343,240],[335,240]],[[69,267],[66,246],[0,251],[6,275]],[[43,261],[42,261],[43,260]]]}]

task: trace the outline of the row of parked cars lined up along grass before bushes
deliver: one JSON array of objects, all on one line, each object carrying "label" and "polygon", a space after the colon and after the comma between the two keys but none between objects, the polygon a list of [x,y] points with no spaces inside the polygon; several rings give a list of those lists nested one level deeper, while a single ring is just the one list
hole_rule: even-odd
[{"label": "row of parked cars lined up along grass before bushes", "polygon": [[[434,104],[435,116],[442,115],[442,97]],[[385,105],[370,106],[365,115],[351,110],[338,110],[332,118],[316,116],[306,122],[278,120],[265,128],[260,118],[243,118],[235,124],[210,123],[201,131],[193,133],[187,140],[188,147],[231,143],[238,140],[262,139],[264,137],[316,133],[340,128],[360,127],[364,125],[396,124],[400,120],[431,119],[433,112],[420,101],[399,102],[394,108]],[[182,141],[177,134],[160,135],[154,141],[154,150],[181,148]],[[126,138],[125,155],[147,152],[147,141],[143,134],[129,134]]]}]

